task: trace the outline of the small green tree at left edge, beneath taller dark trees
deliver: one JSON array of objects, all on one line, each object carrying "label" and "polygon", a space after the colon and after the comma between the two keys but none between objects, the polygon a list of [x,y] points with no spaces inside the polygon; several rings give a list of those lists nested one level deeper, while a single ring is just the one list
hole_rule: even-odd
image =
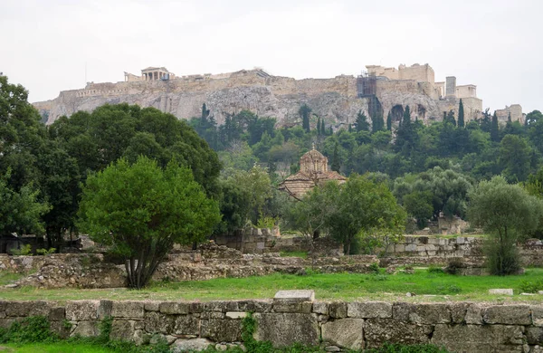
[{"label": "small green tree at left edge, beneath taller dark trees", "polygon": [[51,207],[38,201],[39,191],[24,185],[19,191],[8,186],[10,171],[0,176],[0,235],[42,234],[41,216]]}]

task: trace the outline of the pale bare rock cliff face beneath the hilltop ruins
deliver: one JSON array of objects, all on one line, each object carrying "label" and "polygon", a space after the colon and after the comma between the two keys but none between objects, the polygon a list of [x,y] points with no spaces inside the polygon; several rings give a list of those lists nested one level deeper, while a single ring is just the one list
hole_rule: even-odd
[{"label": "pale bare rock cliff face beneath the hilltop ruins", "polygon": [[[377,90],[376,98],[383,106],[384,119],[397,104],[424,107],[424,120],[440,119],[443,114],[434,97],[417,85],[397,91],[395,87],[384,87]],[[179,119],[199,117],[205,103],[218,124],[224,123],[227,114],[252,110],[261,117],[276,118],[279,125],[300,122],[298,110],[305,103],[316,116],[325,119],[327,126],[338,128],[353,123],[359,110],[368,114],[369,100],[358,98],[357,79],[353,76],[294,80],[252,70],[233,72],[220,79],[189,76],[168,81],[90,82],[84,89],[62,91],[54,100],[36,102],[34,106],[51,124],[62,115],[121,102],[155,107]],[[313,119],[316,122],[317,118]]]}]

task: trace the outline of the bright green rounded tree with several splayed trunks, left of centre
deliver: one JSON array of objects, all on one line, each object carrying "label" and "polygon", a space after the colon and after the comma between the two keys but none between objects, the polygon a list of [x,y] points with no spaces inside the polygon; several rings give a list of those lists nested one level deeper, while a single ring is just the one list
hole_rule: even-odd
[{"label": "bright green rounded tree with several splayed trunks, left of centre", "polygon": [[166,169],[148,157],[120,159],[91,175],[83,188],[81,230],[125,260],[129,287],[141,289],[174,243],[201,242],[220,220],[214,200],[190,169]]}]

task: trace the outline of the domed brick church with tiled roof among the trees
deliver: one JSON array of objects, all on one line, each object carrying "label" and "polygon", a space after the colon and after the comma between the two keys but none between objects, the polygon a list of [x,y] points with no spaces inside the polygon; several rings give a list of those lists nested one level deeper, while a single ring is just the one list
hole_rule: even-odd
[{"label": "domed brick church with tiled roof among the trees", "polygon": [[322,185],[329,180],[336,180],[339,184],[343,184],[347,181],[347,177],[329,170],[328,158],[313,147],[300,157],[300,171],[287,177],[279,188],[291,196],[300,198],[313,187]]}]

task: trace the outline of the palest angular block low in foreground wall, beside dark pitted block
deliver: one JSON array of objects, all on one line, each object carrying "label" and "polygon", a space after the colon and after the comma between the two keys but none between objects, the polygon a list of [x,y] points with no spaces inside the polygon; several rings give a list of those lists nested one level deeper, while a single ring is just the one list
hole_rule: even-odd
[{"label": "palest angular block low in foreground wall, beside dark pitted block", "polygon": [[340,319],[322,325],[322,339],[333,345],[359,350],[364,348],[364,320]]}]

